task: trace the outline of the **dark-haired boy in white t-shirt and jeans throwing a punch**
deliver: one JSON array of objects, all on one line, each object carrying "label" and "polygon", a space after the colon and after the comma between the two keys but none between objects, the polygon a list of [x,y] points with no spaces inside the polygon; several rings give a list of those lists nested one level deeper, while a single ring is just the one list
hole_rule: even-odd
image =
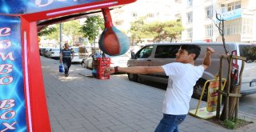
[{"label": "dark-haired boy in white t-shirt and jeans throwing a punch", "polygon": [[186,118],[189,111],[193,87],[202,77],[203,71],[211,63],[210,55],[214,49],[208,47],[206,56],[200,66],[194,66],[201,47],[197,45],[181,45],[176,54],[176,62],[163,66],[108,67],[106,74],[126,72],[130,74],[165,73],[169,76],[166,95],[163,101],[163,118],[155,132],[178,132],[178,126]]}]

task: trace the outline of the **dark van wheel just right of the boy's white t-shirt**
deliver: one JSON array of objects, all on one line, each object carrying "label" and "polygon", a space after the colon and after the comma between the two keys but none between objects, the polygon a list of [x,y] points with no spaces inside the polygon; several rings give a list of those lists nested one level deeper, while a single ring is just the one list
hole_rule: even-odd
[{"label": "dark van wheel just right of the boy's white t-shirt", "polygon": [[[196,99],[200,99],[201,93],[202,93],[202,88],[205,84],[206,80],[200,78],[198,80],[198,82],[196,82],[195,86],[194,86],[194,91],[193,91],[193,97]],[[207,87],[207,86],[206,86]],[[203,94],[202,94],[202,100],[206,101],[207,100],[207,93],[208,93],[208,89],[205,89]]]}]

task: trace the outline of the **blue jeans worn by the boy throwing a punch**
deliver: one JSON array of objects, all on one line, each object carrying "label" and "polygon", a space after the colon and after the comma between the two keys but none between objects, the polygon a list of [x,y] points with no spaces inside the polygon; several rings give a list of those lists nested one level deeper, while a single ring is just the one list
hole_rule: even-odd
[{"label": "blue jeans worn by the boy throwing a punch", "polygon": [[178,132],[178,125],[186,118],[186,114],[172,115],[163,114],[162,120],[159,122],[154,132]]}]

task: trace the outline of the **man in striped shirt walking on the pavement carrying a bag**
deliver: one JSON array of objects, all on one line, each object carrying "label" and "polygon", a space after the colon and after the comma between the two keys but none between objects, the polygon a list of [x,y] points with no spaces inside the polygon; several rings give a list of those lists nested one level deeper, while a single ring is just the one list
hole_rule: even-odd
[{"label": "man in striped shirt walking on the pavement carrying a bag", "polygon": [[65,77],[69,76],[71,60],[74,58],[74,50],[70,49],[68,43],[64,44],[64,49],[59,54],[59,62],[63,62],[65,69]]}]

